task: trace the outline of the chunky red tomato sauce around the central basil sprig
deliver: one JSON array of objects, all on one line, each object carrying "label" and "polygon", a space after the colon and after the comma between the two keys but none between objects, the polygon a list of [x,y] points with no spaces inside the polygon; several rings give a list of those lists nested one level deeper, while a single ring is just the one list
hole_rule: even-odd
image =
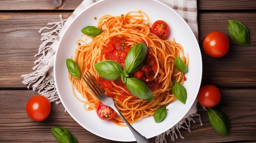
[{"label": "chunky red tomato sauce around the central basil sprig", "polygon": [[[125,37],[124,38],[112,37],[110,39],[110,42],[103,49],[103,53],[101,56],[106,57],[106,59],[108,60],[113,60],[115,62],[118,62],[124,69],[124,61],[128,54],[128,51],[131,48],[130,46],[125,44],[125,42],[126,42]],[[139,70],[135,71],[134,73],[131,73],[130,76],[143,80],[151,90],[156,90],[159,87],[157,82],[153,80],[154,71],[156,70],[157,70],[157,64],[153,57],[153,53],[148,51],[146,55],[146,60],[144,61],[141,68],[139,68]],[[106,91],[109,91],[107,92],[107,96],[110,96],[110,97],[115,97],[115,95],[111,94],[111,92],[112,91],[114,92],[114,90],[118,90],[122,95],[126,95],[126,92],[124,90],[128,91],[128,89],[126,88],[121,78],[118,78],[117,80],[115,80],[115,84],[121,86],[122,88],[124,88],[124,90],[121,90],[120,88],[116,88],[112,84],[112,82],[107,79],[99,78],[97,79],[97,82],[101,86],[101,88],[105,89]]]}]

